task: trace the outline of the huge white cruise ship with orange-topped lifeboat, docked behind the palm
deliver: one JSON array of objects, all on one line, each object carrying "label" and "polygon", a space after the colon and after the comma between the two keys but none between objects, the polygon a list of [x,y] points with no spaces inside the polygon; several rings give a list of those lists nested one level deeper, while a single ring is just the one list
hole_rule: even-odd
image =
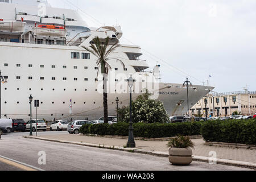
[{"label": "huge white cruise ship with orange-topped lifeboat, docked behind the palm", "polygon": [[[29,119],[30,95],[39,100],[38,118],[47,121],[102,117],[97,57],[84,47],[93,44],[96,36],[102,41],[109,36],[113,44],[122,35],[120,26],[89,27],[77,11],[51,7],[47,1],[0,0],[0,70],[5,78],[1,82],[1,117]],[[136,80],[133,100],[148,90],[153,99],[163,102],[170,116],[186,114],[188,106],[213,89],[160,82],[160,65],[149,70],[141,56],[141,47],[124,44],[109,55],[109,115],[116,115],[117,97],[118,107],[129,105],[126,79],[130,75]]]}]

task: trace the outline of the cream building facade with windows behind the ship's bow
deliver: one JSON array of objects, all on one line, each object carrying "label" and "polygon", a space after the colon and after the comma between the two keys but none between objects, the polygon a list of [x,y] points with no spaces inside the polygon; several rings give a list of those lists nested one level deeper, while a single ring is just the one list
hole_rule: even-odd
[{"label": "cream building facade with windows behind the ship's bow", "polygon": [[189,114],[203,114],[205,117],[205,110],[208,117],[230,116],[234,111],[242,115],[253,115],[256,113],[256,91],[207,94],[190,109]]}]

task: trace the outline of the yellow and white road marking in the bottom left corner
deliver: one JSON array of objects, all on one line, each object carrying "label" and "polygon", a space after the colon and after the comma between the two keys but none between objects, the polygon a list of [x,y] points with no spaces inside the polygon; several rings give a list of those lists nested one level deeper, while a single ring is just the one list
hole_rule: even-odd
[{"label": "yellow and white road marking in the bottom left corner", "polygon": [[9,164],[11,166],[23,169],[25,171],[44,171],[43,169],[31,166],[31,165],[26,164],[26,163],[19,162],[17,160],[6,158],[5,156],[2,156],[2,155],[0,155],[0,161],[3,162],[3,163]]}]

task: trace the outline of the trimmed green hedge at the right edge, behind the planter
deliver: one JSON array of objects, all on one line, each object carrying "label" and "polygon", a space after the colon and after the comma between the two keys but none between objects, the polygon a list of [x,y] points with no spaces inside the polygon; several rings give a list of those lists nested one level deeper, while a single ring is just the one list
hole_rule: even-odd
[{"label": "trimmed green hedge at the right edge, behind the planter", "polygon": [[201,134],[209,142],[256,144],[256,119],[207,121]]}]

